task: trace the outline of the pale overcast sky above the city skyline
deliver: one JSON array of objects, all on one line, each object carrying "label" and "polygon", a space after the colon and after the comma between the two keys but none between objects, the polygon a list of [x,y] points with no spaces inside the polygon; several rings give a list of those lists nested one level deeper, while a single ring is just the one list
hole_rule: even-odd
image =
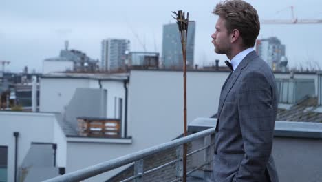
[{"label": "pale overcast sky above the city skyline", "polygon": [[[11,61],[6,70],[41,71],[43,59],[57,57],[69,40],[69,48],[100,59],[100,41],[125,38],[131,51],[162,52],[162,25],[174,23],[171,11],[189,12],[196,21],[195,63],[206,65],[225,56],[215,54],[211,34],[217,17],[211,12],[219,1],[96,1],[96,0],[4,0],[0,6],[0,60]],[[259,19],[291,19],[288,6],[294,6],[298,19],[322,19],[321,0],[250,2]],[[276,36],[286,45],[290,66],[316,61],[322,68],[322,24],[261,25],[259,38]],[[138,37],[138,38],[137,38]],[[140,39],[140,41],[138,40]],[[141,42],[141,43],[140,43]]]}]

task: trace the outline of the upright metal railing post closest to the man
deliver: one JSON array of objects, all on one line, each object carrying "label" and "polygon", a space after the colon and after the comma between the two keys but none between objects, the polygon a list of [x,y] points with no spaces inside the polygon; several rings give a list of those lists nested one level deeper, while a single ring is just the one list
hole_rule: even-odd
[{"label": "upright metal railing post closest to the man", "polygon": [[[208,146],[208,147],[207,147]],[[204,136],[204,163],[211,161],[211,135]],[[211,181],[211,163],[204,165],[204,181]]]}]

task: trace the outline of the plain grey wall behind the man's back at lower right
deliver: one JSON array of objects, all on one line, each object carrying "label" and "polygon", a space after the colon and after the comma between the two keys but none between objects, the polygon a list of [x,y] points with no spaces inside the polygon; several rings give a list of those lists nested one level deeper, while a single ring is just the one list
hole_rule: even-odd
[{"label": "plain grey wall behind the man's back at lower right", "polygon": [[322,181],[321,151],[321,139],[275,137],[272,155],[279,181]]}]

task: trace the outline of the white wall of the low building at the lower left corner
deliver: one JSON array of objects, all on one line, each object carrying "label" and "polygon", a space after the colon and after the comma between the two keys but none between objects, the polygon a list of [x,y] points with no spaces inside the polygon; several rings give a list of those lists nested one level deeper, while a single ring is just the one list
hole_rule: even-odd
[{"label": "white wall of the low building at the lower left corner", "polygon": [[[8,146],[8,181],[14,181],[14,132],[19,132],[18,137],[18,168],[30,149],[32,142],[56,143],[58,165],[63,165],[63,155],[66,151],[61,148],[64,141],[61,133],[54,134],[56,119],[54,114],[30,112],[0,112],[0,145]],[[54,136],[55,135],[55,136]],[[56,137],[56,139],[54,139]]]}]

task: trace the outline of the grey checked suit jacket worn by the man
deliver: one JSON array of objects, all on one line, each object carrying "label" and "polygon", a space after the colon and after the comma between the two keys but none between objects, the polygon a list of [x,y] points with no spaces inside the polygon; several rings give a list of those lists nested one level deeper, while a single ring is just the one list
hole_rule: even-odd
[{"label": "grey checked suit jacket worn by the man", "polygon": [[266,62],[250,52],[222,87],[213,181],[278,181],[271,155],[276,114],[275,77]]}]

